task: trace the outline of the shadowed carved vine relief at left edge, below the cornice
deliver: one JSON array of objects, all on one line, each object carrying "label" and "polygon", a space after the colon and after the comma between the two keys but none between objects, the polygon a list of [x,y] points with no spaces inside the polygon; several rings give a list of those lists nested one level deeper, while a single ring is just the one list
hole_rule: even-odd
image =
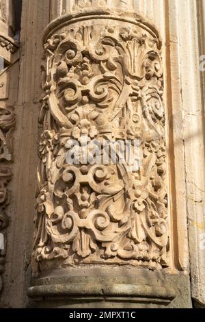
[{"label": "shadowed carved vine relief at left edge, below the cornice", "polygon": [[0,234],[1,245],[3,245],[0,249],[0,291],[3,286],[1,274],[5,264],[5,229],[8,227],[9,221],[5,213],[5,208],[10,203],[7,186],[12,179],[12,170],[8,166],[8,162],[12,161],[12,132],[15,125],[14,108],[12,106],[0,107]]}]

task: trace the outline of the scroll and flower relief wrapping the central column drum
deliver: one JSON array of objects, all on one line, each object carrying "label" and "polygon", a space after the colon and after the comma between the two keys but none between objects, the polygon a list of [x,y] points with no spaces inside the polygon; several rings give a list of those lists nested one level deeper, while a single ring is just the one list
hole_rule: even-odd
[{"label": "scroll and flower relief wrapping the central column drum", "polygon": [[[122,21],[54,34],[42,64],[34,271],[77,263],[169,265],[161,45]],[[67,164],[68,140],[138,138],[126,164]],[[47,265],[47,266],[46,266]]]}]

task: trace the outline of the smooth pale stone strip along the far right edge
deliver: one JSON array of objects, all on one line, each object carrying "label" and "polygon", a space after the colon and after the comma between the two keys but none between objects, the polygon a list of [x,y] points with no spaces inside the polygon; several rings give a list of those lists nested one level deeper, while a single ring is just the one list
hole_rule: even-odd
[{"label": "smooth pale stone strip along the far right edge", "polygon": [[[193,299],[205,307],[205,128],[202,119],[205,107],[205,70],[198,67],[205,61],[202,60],[205,53],[205,3],[187,3],[187,10],[194,13],[191,17],[184,17],[191,26],[189,35],[181,35],[184,51],[181,68],[186,71],[182,77],[182,90],[189,92],[192,88],[191,99],[184,98],[183,101],[191,289]],[[197,23],[200,28],[198,33],[195,29]],[[188,39],[191,42],[190,48],[195,48],[191,57],[187,54]],[[191,67],[187,69],[190,65],[195,66],[192,77]]]}]

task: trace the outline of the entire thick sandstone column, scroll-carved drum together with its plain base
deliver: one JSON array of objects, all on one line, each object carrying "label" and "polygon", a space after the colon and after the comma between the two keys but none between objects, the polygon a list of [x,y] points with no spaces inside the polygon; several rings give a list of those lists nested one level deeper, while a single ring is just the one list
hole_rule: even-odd
[{"label": "entire thick sandstone column, scroll-carved drum together with its plain base", "polygon": [[[190,306],[169,227],[159,34],[123,1],[115,9],[109,1],[73,2],[44,32],[29,295],[41,307],[174,307],[176,297]],[[87,154],[83,138],[92,142]],[[84,162],[105,140],[109,162]],[[113,144],[127,140],[133,155],[139,143],[139,167],[120,154],[113,162]],[[79,164],[68,161],[72,153]]]}]

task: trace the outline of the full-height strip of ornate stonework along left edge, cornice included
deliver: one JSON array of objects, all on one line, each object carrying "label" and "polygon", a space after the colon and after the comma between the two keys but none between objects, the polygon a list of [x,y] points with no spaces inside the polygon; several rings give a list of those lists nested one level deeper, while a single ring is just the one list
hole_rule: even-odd
[{"label": "full-height strip of ornate stonework along left edge, cornice included", "polygon": [[[0,291],[3,287],[6,252],[6,228],[9,219],[5,209],[10,203],[8,183],[12,179],[12,169],[9,164],[13,160],[12,133],[16,126],[16,116],[13,106],[7,106],[10,97],[10,80],[12,66],[18,60],[18,42],[14,36],[14,12],[11,0],[0,0]],[[18,87],[18,86],[17,86]],[[14,92],[14,90],[13,90]],[[11,103],[12,104],[12,103]]]}]

